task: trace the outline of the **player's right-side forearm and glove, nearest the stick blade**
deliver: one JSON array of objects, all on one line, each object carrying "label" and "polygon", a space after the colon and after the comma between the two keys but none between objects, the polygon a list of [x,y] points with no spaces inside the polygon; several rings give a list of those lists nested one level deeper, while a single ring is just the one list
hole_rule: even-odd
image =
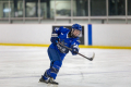
[{"label": "player's right-side forearm and glove, nearest the stick blade", "polygon": [[79,39],[76,39],[75,41],[73,41],[71,44],[71,49],[72,49],[71,53],[73,55],[78,54],[78,52],[79,52],[79,45],[80,45],[80,40]]}]

